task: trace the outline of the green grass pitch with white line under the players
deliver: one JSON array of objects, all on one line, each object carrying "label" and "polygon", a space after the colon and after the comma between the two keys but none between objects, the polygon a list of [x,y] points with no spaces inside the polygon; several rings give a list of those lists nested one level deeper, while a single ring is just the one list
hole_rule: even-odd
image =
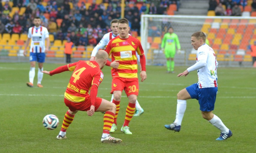
[{"label": "green grass pitch with white line under the players", "polygon": [[[62,64],[45,63],[44,70],[50,71]],[[187,77],[176,77],[187,67],[176,67],[175,74],[166,74],[166,68],[147,66],[147,79],[139,83],[138,101],[145,110],[130,122],[132,135],[120,131],[124,121],[128,99],[124,92],[117,119],[117,131],[112,134],[123,140],[120,144],[100,142],[103,114],[93,117],[78,112],[69,126],[68,139],[57,140],[56,136],[68,110],[64,92],[72,72],[63,72],[52,77],[45,75],[44,88],[29,88],[29,63],[0,63],[0,152],[256,152],[255,107],[256,69],[218,68],[218,95],[213,111],[233,132],[225,141],[216,141],[220,131],[204,120],[197,100],[187,100],[187,110],[180,132],[169,131],[165,124],[172,123],[176,114],[178,91],[197,82],[196,72]],[[99,86],[98,97],[111,99],[110,67],[103,70],[104,79]],[[59,118],[55,130],[43,127],[47,114]]]}]

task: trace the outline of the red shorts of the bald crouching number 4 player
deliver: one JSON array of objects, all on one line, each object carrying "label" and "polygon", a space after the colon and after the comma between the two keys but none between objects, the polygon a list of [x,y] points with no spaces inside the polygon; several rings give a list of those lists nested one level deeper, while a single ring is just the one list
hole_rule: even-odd
[{"label": "red shorts of the bald crouching number 4 player", "polygon": [[[66,106],[69,108],[70,111],[89,111],[91,108],[91,98],[90,95],[85,98],[85,101],[83,102],[72,102],[64,98],[64,102]],[[102,102],[102,98],[96,97],[96,102],[95,102],[95,110],[96,111],[100,104]]]}]

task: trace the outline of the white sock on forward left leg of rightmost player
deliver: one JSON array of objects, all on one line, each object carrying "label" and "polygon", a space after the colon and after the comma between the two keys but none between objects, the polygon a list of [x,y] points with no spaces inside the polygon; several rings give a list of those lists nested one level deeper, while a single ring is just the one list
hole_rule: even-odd
[{"label": "white sock on forward left leg of rightmost player", "polygon": [[187,107],[187,100],[177,100],[177,111],[176,111],[176,118],[175,118],[175,125],[181,125],[185,110]]}]

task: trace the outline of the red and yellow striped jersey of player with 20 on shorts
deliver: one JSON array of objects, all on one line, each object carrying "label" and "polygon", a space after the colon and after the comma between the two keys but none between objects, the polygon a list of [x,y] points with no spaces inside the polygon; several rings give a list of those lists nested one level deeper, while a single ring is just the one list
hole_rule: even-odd
[{"label": "red and yellow striped jersey of player with 20 on shorts", "polygon": [[138,55],[144,54],[139,39],[130,35],[127,39],[117,36],[108,42],[105,51],[111,55],[112,62],[119,60],[119,67],[111,68],[112,77],[138,78],[136,51]]}]

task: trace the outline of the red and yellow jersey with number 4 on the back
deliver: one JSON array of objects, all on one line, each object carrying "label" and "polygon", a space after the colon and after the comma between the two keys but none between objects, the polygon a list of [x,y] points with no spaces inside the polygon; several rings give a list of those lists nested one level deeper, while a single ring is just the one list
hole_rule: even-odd
[{"label": "red and yellow jersey with number 4 on the back", "polygon": [[[64,94],[65,98],[72,102],[83,102],[93,84],[99,86],[103,79],[103,73],[95,61],[83,61],[68,64],[68,71],[74,71],[69,80]],[[57,71],[62,71],[58,70]],[[56,70],[50,71],[55,74]],[[65,70],[65,69],[64,69]],[[63,71],[64,71],[63,70]],[[67,70],[66,70],[67,71]]]}]

